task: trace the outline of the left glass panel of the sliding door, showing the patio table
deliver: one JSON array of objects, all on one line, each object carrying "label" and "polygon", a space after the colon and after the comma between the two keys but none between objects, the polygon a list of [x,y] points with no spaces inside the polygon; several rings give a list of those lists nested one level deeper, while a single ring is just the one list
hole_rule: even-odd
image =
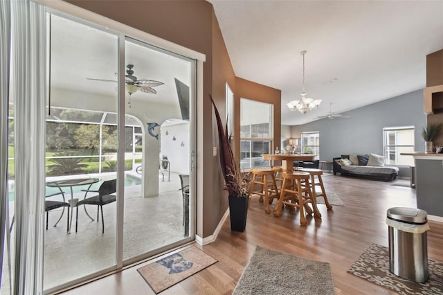
[{"label": "left glass panel of the sliding door, showing the patio table", "polygon": [[116,179],[118,37],[51,15],[50,51],[45,205],[70,206],[46,206],[46,290],[116,266],[116,202],[76,204]]}]

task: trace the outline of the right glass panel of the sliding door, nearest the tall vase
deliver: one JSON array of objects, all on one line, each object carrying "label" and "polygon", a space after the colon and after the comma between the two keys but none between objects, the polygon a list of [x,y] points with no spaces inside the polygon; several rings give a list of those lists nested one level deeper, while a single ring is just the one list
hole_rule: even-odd
[{"label": "right glass panel of the sliding door, nearest the tall vase", "polygon": [[[126,134],[141,181],[125,193],[123,260],[150,256],[190,239],[190,97],[193,62],[127,39],[126,114],[141,123]],[[131,137],[132,136],[132,137]],[[132,153],[129,153],[132,152]],[[127,190],[125,190],[126,192]]]}]

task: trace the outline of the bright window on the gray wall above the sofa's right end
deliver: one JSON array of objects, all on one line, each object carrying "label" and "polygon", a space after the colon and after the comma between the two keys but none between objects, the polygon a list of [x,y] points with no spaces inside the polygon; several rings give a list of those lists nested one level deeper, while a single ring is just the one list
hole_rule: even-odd
[{"label": "bright window on the gray wall above the sofa's right end", "polygon": [[413,165],[410,156],[401,156],[402,152],[414,152],[414,127],[383,128],[383,154],[386,164]]}]

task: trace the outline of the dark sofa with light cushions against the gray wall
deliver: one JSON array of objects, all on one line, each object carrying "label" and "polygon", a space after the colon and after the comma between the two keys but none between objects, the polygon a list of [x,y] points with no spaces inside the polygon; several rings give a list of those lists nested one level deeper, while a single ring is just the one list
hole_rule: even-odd
[{"label": "dark sofa with light cushions against the gray wall", "polygon": [[377,154],[341,155],[332,159],[334,175],[393,180],[399,173],[395,166],[384,166],[384,157]]}]

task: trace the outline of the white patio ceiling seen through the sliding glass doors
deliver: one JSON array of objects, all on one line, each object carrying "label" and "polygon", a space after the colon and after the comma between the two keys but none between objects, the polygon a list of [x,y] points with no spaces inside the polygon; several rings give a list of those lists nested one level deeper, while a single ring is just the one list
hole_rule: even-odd
[{"label": "white patio ceiling seen through the sliding glass doors", "polygon": [[[117,82],[88,78],[117,81],[117,35],[57,15],[53,15],[51,27],[51,89],[63,90],[62,93],[78,92],[79,96],[84,93],[84,96],[89,94],[116,98]],[[137,102],[179,107],[174,78],[190,85],[192,64],[189,60],[165,54],[148,45],[127,41],[125,64],[134,64],[134,75],[139,80],[164,83],[154,88],[156,94],[141,91],[133,93],[131,100],[134,107],[142,105]],[[60,96],[52,97],[55,105],[57,102],[62,103],[62,100]],[[111,102],[116,107],[116,99]]]}]

